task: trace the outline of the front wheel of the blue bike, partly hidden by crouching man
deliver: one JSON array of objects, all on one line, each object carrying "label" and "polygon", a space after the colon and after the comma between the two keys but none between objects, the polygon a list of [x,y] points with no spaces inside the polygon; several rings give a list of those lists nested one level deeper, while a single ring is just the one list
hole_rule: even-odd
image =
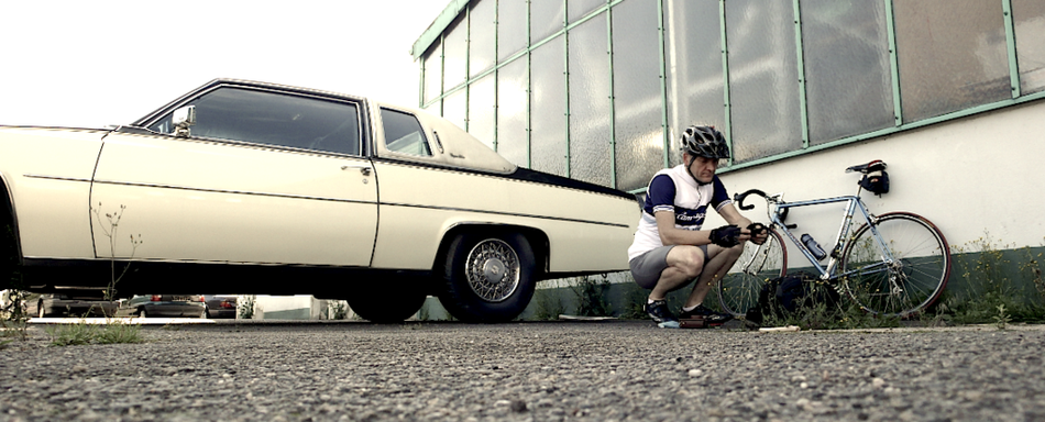
[{"label": "front wheel of the blue bike, partly hidden by crouching man", "polygon": [[783,238],[772,229],[769,229],[766,243],[745,243],[744,253],[718,282],[718,302],[723,311],[734,316],[747,314],[748,309],[758,304],[766,281],[788,271],[787,263],[788,249],[783,247]]}]

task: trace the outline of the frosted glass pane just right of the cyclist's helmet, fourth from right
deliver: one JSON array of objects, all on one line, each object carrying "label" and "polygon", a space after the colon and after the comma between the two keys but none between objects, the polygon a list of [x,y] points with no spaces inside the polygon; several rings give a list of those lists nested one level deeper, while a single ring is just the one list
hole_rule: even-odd
[{"label": "frosted glass pane just right of the cyclist's helmet, fourth from right", "polygon": [[726,2],[732,153],[738,163],[802,147],[792,8],[790,1]]}]

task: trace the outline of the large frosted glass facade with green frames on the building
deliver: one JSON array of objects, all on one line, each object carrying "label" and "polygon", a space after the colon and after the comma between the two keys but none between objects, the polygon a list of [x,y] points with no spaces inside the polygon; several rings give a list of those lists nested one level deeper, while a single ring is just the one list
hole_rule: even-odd
[{"label": "large frosted glass facade with green frames on the building", "polygon": [[418,54],[421,107],[520,166],[629,191],[691,124],[723,131],[729,171],[1045,98],[1041,0],[452,4]]}]

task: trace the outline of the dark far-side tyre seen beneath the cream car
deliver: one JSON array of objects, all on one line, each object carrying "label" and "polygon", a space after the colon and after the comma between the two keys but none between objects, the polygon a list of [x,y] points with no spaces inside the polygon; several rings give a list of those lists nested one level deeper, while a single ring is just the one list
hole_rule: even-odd
[{"label": "dark far-side tyre seen beneath the cream car", "polygon": [[414,316],[427,298],[416,279],[391,277],[351,289],[346,301],[349,308],[366,321],[396,323]]}]

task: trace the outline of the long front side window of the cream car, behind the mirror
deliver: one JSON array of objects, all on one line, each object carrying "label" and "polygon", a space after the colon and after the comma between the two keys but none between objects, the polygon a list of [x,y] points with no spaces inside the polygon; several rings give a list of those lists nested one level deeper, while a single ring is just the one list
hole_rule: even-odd
[{"label": "long front side window of the cream car, behind the mirror", "polygon": [[[220,88],[196,106],[193,136],[360,155],[359,108],[316,98]],[[173,133],[170,115],[148,126]]]}]

